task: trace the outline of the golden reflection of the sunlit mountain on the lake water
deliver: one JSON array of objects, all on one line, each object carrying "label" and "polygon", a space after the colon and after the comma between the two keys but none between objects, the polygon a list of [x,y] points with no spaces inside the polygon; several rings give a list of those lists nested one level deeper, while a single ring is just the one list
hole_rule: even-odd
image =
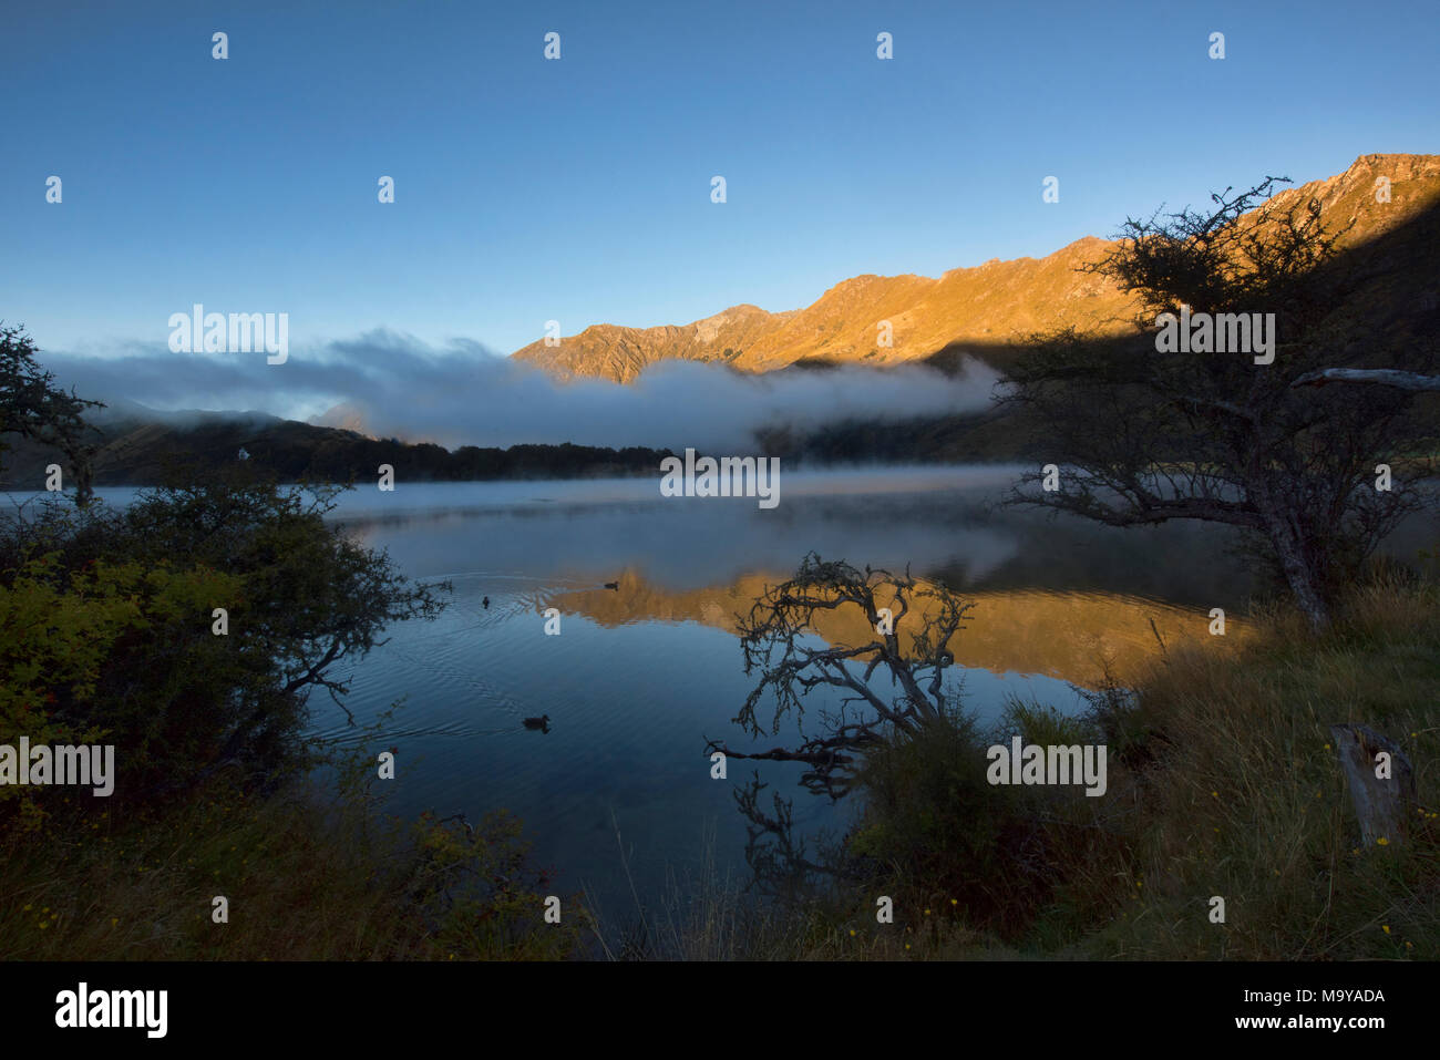
[{"label": "golden reflection of the sunlit mountain on the lake water", "polygon": [[[626,570],[618,592],[563,592],[540,606],[556,606],[605,626],[700,622],[736,632],[736,616],[749,612],[766,585],[785,578],[755,573],[729,586],[675,590]],[[1246,635],[1234,618],[1227,618],[1221,639],[1210,635],[1207,609],[1117,593],[1020,589],[966,593],[966,599],[975,603],[971,622],[950,641],[958,664],[992,673],[1045,674],[1092,688],[1103,680],[1106,667],[1122,680],[1133,674],[1161,652],[1162,639],[1174,651],[1187,644],[1234,644]],[[912,612],[897,624],[901,644],[922,621],[920,612]],[[871,635],[855,608],[821,612],[815,628],[831,644],[858,644]]]}]

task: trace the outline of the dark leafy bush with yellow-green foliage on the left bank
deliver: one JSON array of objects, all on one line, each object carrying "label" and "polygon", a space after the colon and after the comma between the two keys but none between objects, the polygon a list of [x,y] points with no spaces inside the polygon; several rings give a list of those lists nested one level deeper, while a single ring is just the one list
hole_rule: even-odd
[{"label": "dark leafy bush with yellow-green foliage on the left bank", "polygon": [[308,694],[338,703],[340,660],[441,608],[324,521],[333,497],[229,478],[0,526],[0,743],[112,743],[120,799],[311,765]]}]

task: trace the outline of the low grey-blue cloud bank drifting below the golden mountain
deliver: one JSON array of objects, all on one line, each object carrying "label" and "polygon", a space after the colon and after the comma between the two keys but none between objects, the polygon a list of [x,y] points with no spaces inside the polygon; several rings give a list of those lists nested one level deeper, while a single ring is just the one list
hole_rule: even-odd
[{"label": "low grey-blue cloud bank drifting below the golden mountain", "polygon": [[[963,374],[923,366],[841,367],[744,376],[693,361],[662,363],[629,386],[560,383],[478,343],[433,347],[393,331],[264,354],[170,353],[132,346],[122,356],[42,354],[81,396],[160,410],[258,410],[359,426],[377,436],[458,445],[576,442],[746,451],[755,431],[809,431],[847,419],[901,421],[978,412],[998,374],[969,361]],[[340,406],[340,408],[337,408]]]}]

